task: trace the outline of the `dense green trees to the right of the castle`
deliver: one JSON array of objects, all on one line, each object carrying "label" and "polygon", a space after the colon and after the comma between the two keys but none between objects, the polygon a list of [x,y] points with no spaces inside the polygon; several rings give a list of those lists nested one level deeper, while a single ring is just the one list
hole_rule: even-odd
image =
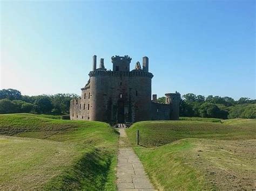
[{"label": "dense green trees to the right of the castle", "polygon": [[[235,101],[232,97],[185,94],[180,100],[180,116],[183,117],[256,118],[256,100],[248,97]],[[159,97],[158,102],[165,103],[165,97]]]}]

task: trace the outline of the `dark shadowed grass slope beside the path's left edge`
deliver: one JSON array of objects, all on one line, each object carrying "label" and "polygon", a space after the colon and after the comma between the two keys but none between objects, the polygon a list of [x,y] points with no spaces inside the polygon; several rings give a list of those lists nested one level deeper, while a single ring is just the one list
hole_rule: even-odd
[{"label": "dark shadowed grass slope beside the path's left edge", "polygon": [[92,148],[75,165],[46,183],[44,189],[105,190],[106,183],[110,183],[108,174],[112,159],[113,152]]}]

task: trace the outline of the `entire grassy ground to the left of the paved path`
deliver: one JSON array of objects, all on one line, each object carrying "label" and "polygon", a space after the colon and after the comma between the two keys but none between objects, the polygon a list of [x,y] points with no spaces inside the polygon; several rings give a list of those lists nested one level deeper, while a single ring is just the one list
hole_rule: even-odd
[{"label": "entire grassy ground to the left of the paved path", "polygon": [[101,122],[0,115],[0,189],[116,190],[118,133]]}]

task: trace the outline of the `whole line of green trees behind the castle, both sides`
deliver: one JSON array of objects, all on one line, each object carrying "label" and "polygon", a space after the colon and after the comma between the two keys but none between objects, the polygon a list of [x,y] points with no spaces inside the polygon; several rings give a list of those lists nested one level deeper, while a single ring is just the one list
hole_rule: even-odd
[{"label": "whole line of green trees behind the castle, both sides", "polygon": [[[0,90],[0,114],[32,112],[37,114],[69,114],[70,100],[76,94],[22,95],[16,89]],[[256,100],[241,97],[203,96],[185,94],[180,96],[180,116],[210,118],[256,118]],[[165,103],[165,97],[158,98]]]}]

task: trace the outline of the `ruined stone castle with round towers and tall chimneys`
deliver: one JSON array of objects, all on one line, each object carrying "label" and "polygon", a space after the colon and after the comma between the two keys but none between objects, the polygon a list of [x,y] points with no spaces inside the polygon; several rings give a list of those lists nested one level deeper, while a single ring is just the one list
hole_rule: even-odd
[{"label": "ruined stone castle with round towers and tall chimneys", "polygon": [[113,70],[107,70],[103,58],[96,68],[94,55],[81,98],[71,100],[70,119],[107,123],[178,120],[180,95],[165,94],[165,104],[157,102],[156,94],[151,100],[153,74],[149,72],[149,58],[143,57],[143,66],[137,62],[130,71],[131,60],[128,55],[112,56]]}]

